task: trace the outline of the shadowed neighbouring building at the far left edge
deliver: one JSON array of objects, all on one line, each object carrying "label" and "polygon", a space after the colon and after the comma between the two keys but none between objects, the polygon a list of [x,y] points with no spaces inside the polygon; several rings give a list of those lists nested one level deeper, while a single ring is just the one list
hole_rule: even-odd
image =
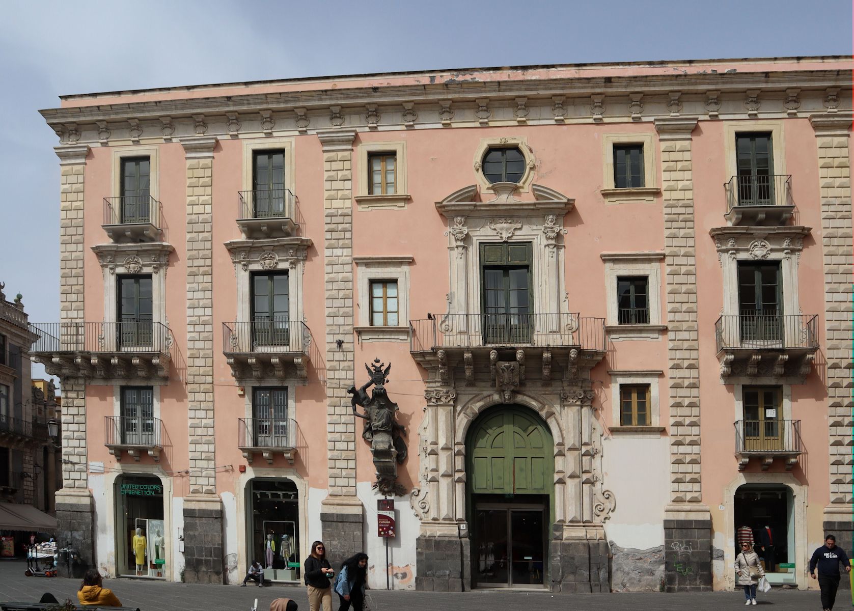
[{"label": "shadowed neighbouring building at the far left edge", "polygon": [[31,532],[56,527],[44,512],[54,509],[60,454],[48,434],[51,404],[32,386],[30,361],[22,358],[35,336],[20,294],[7,301],[3,288],[0,282],[0,532],[15,538],[20,553]]}]

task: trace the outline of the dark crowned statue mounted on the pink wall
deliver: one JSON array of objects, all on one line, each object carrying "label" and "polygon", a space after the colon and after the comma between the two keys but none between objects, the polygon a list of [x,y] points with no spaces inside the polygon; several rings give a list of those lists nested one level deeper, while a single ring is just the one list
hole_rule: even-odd
[{"label": "dark crowned statue mounted on the pink wall", "polygon": [[[350,387],[348,393],[353,395],[350,403],[353,404],[354,415],[365,419],[362,438],[371,443],[371,454],[377,469],[377,481],[373,487],[383,495],[402,497],[407,489],[397,481],[397,465],[403,464],[407,458],[407,444],[403,440],[407,432],[397,422],[397,404],[385,392],[391,364],[383,370],[384,366],[378,358],[374,359],[370,367],[365,364],[370,379],[359,389]],[[369,397],[367,389],[371,386],[373,390]],[[356,405],[360,405],[365,413],[360,414]]]}]

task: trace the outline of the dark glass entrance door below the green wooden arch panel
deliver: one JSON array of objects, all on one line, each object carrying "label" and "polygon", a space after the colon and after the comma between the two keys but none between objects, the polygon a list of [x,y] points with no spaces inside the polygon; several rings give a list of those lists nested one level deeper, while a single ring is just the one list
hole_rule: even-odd
[{"label": "dark glass entrance door below the green wooden arch panel", "polygon": [[472,581],[486,587],[545,585],[543,505],[477,505]]}]

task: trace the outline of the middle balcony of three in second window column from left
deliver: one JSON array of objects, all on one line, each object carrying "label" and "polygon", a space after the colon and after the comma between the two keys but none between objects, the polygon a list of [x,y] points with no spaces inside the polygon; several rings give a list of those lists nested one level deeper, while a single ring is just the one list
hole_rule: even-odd
[{"label": "middle balcony of three in second window column from left", "polygon": [[311,332],[285,317],[222,324],[225,361],[235,380],[307,378]]}]

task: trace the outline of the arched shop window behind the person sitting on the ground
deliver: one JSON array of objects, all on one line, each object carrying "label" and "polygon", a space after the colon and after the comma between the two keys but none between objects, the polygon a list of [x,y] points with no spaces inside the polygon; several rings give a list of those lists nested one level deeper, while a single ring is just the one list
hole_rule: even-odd
[{"label": "arched shop window behind the person sitting on the ground", "polygon": [[247,498],[249,550],[247,557],[265,568],[265,579],[300,580],[300,503],[293,481],[284,478],[249,481]]}]

